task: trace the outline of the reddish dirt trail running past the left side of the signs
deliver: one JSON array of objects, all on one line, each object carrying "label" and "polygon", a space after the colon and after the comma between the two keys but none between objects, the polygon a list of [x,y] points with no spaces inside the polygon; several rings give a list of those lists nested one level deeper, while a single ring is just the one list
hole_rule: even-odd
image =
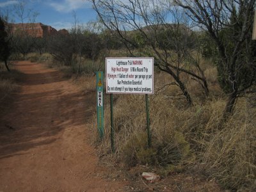
[{"label": "reddish dirt trail running past the left side of the signs", "polygon": [[17,68],[21,91],[0,111],[0,191],[123,191],[89,145],[94,94],[43,64]]}]

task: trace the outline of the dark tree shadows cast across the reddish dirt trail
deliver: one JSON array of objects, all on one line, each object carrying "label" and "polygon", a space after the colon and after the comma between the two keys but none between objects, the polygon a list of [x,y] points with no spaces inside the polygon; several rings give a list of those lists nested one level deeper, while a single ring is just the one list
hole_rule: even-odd
[{"label": "dark tree shadows cast across the reddish dirt trail", "polygon": [[[30,71],[31,65],[21,66],[26,67],[20,82],[21,92],[1,104],[0,159],[48,145],[58,140],[57,135],[63,129],[71,127],[76,131],[77,126],[86,124],[93,115],[92,103],[86,101],[95,100],[95,93],[79,91],[58,71]],[[26,93],[24,86],[31,86],[33,93]]]}]

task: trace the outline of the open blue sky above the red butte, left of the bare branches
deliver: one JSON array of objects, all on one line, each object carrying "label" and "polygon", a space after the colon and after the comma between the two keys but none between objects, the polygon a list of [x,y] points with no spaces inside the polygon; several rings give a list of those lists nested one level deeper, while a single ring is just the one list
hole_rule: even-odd
[{"label": "open blue sky above the red butte, left of the bare branches", "polygon": [[[79,24],[97,19],[97,13],[92,9],[92,4],[88,0],[27,0],[22,2],[25,3],[26,10],[31,9],[39,14],[36,22],[42,22],[55,29],[70,29],[74,23],[74,12]],[[4,15],[9,10],[10,17],[15,22],[20,22],[14,16],[14,6],[19,3],[20,1],[15,0],[0,0],[0,13]]]}]

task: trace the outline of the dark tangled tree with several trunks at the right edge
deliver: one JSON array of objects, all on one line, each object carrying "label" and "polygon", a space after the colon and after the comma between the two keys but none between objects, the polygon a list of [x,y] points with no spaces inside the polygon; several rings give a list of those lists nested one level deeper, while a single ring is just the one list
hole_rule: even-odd
[{"label": "dark tangled tree with several trunks at the right edge", "polygon": [[228,95],[223,116],[232,114],[236,99],[251,92],[256,81],[256,44],[252,41],[255,0],[176,0],[207,31],[217,47],[220,86]]}]

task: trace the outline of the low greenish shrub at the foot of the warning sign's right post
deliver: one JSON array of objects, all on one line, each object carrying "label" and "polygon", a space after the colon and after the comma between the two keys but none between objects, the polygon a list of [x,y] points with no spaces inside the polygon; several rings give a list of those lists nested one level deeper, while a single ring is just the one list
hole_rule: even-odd
[{"label": "low greenish shrub at the foot of the warning sign's right post", "polygon": [[175,131],[167,140],[154,141],[151,148],[147,147],[147,134],[134,134],[123,148],[124,161],[128,166],[135,164],[177,165],[190,156],[188,141],[182,132]]}]

